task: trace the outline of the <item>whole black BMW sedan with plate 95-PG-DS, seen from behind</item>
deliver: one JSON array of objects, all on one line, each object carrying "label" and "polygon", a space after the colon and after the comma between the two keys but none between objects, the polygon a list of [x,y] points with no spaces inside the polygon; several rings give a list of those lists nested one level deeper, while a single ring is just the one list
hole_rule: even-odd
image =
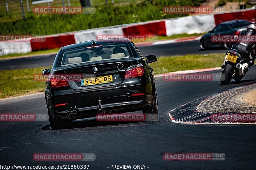
[{"label": "whole black BMW sedan with plate 95-PG-DS, seen from behind", "polygon": [[53,129],[97,113],[158,113],[153,69],[129,39],[62,47],[48,76],[45,99]]}]

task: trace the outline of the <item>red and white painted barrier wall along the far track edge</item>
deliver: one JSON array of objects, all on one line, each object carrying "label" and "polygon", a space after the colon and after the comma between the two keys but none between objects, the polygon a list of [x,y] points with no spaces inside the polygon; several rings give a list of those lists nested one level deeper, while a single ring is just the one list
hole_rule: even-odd
[{"label": "red and white painted barrier wall along the far track edge", "polygon": [[[55,34],[45,37],[45,42],[0,42],[0,55],[28,53],[31,51],[60,48],[69,44],[95,40],[97,35],[159,35],[193,34],[210,31],[220,22],[246,19],[255,21],[256,10],[242,10],[230,13],[209,14],[156,20],[149,22],[117,25],[116,27],[97,28],[72,33]],[[149,43],[150,44],[150,43]],[[152,44],[152,43],[151,43]]]}]

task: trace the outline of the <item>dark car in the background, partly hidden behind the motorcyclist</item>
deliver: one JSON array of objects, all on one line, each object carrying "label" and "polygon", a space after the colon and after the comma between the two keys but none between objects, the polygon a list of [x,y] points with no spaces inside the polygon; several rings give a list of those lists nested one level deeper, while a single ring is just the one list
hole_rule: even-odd
[{"label": "dark car in the background, partly hidden behind the motorcyclist", "polygon": [[222,22],[218,24],[212,31],[204,34],[200,39],[200,48],[205,50],[207,48],[212,47],[224,47],[224,42],[212,42],[211,37],[213,35],[235,35],[238,34],[240,31],[246,29],[249,21],[243,19],[237,19],[227,22]]}]

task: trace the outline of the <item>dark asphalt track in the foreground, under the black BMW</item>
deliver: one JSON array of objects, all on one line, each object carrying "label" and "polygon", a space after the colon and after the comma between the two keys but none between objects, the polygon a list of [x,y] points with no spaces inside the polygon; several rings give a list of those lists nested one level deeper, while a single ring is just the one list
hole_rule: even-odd
[{"label": "dark asphalt track in the foreground, under the black BMW", "polygon": [[[168,113],[183,104],[227,89],[256,83],[256,66],[241,83],[163,81],[156,78],[159,119],[109,124],[80,120],[72,128],[52,130],[45,122],[0,122],[0,165],[146,165],[145,169],[256,169],[254,125],[172,123]],[[211,71],[207,73],[220,73]],[[0,113],[47,113],[44,94],[4,99]],[[225,153],[221,161],[165,161],[162,153]],[[34,153],[95,153],[95,161],[34,161]],[[109,168],[108,168],[109,167]],[[112,168],[113,169],[113,168]],[[132,168],[133,169],[133,168]]]}]

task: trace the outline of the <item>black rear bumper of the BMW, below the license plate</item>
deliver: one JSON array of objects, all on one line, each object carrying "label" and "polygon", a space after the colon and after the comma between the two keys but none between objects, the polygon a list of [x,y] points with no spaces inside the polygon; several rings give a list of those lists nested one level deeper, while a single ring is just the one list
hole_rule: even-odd
[{"label": "black rear bumper of the BMW, below the license plate", "polygon": [[[141,79],[141,78],[140,78]],[[141,81],[140,81],[141,83]],[[72,90],[63,95],[48,96],[46,103],[51,118],[93,117],[99,113],[99,102],[107,113],[124,113],[139,111],[147,106],[152,106],[154,92],[151,83],[133,84],[130,86],[113,86],[105,89]],[[66,92],[67,92],[66,91]],[[143,96],[132,96],[132,94],[144,93]],[[67,103],[64,106],[56,104]],[[67,111],[76,109],[75,115],[68,115]]]}]

